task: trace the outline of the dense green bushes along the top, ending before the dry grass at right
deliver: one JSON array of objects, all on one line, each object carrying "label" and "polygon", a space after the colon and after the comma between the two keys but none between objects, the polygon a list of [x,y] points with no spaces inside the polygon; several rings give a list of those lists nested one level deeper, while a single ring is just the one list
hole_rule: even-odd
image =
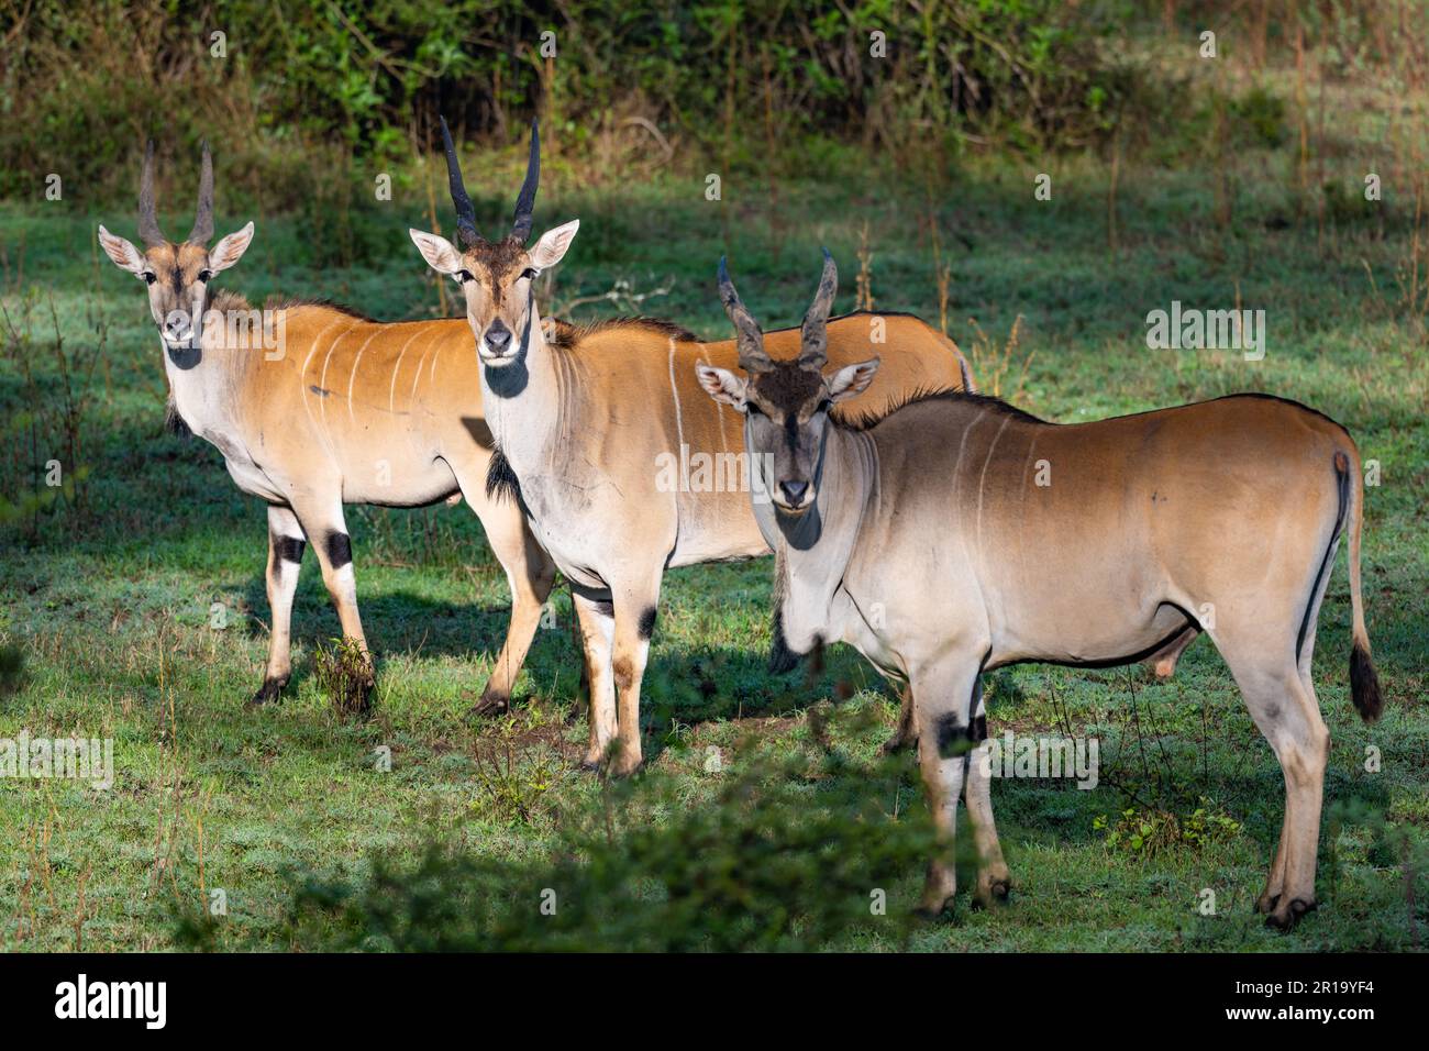
[{"label": "dense green bushes along the top, ending before the dry grass at right", "polygon": [[221,143],[224,186],[292,206],[353,157],[434,146],[437,110],[467,136],[510,142],[539,110],[586,156],[663,156],[669,140],[746,167],[805,163],[790,144],[810,136],[899,153],[967,136],[1080,146],[1139,90],[1115,46],[1133,9],[96,0],[77,17],[64,0],[0,0],[0,193],[56,172],[81,199],[127,197],[154,134],[161,157]]}]

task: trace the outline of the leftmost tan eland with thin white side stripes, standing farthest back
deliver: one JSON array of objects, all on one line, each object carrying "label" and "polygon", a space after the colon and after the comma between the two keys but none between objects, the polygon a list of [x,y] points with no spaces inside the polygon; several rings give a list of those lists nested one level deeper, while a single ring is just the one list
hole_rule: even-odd
[{"label": "leftmost tan eland with thin white side stripes, standing farthest back", "polygon": [[[520,510],[487,495],[492,433],[482,415],[470,329],[460,319],[380,323],[320,303],[267,313],[210,293],[253,237],[253,223],[213,249],[213,167],[203,152],[199,219],[181,242],[159,230],[153,144],[139,202],[140,252],[100,226],[104,252],[149,286],[171,410],[223,453],[239,488],[269,503],[267,596],[273,626],[263,685],[292,672],[289,623],[304,541],[312,542],[343,635],[367,645],[357,616],[344,503],[422,506],[464,496],[512,589],[512,621],[484,705],[510,695],[554,568]],[[372,685],[370,668],[367,686]]]}]

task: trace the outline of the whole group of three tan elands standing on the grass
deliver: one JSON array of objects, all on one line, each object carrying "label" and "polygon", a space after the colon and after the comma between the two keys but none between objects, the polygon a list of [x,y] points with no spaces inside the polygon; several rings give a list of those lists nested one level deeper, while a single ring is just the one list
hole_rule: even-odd
[{"label": "whole group of three tan elands standing on the grass", "polygon": [[[939,914],[955,894],[959,796],[980,859],[976,897],[1009,889],[982,676],[1017,662],[1137,661],[1167,676],[1205,632],[1285,776],[1258,908],[1288,928],[1315,907],[1329,731],[1310,655],[1342,538],[1350,696],[1366,721],[1380,711],[1360,586],[1365,489],[1343,426],[1270,395],[1077,425],[1036,419],[976,393],[956,345],[917,317],[830,317],[827,252],[797,329],[763,332],[725,260],[733,340],[704,343],[644,317],[543,320],[534,280],[560,263],[579,222],[527,246],[534,124],[512,229],[494,240],[476,229],[446,122],[442,134],[457,243],[410,235],[460,285],[464,322],[374,322],[302,300],[259,312],[211,290],[254,229],[206,247],[207,146],[183,242],[159,229],[151,144],[143,249],[99,227],[109,257],[147,286],[173,425],[213,443],[237,486],[267,505],[272,633],[253,704],[277,701],[289,681],[309,545],[360,655],[362,688],[373,685],[344,505],[464,499],[512,592],[477,709],[507,706],[559,571],[590,688],[584,765],[629,775],[642,764],[640,684],[666,568],[773,552],[770,668],[846,642],[902,696],[887,746],[917,749],[940,837],[922,909]],[[713,470],[693,485],[660,469],[696,458]]]}]

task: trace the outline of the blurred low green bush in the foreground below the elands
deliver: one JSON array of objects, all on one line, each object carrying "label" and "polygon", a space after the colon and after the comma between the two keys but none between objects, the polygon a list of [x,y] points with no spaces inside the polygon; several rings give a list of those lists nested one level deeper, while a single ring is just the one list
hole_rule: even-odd
[{"label": "blurred low green bush in the foreground below the elands", "polygon": [[[856,768],[826,746],[712,772],[709,799],[682,798],[667,775],[604,785],[534,862],[433,844],[414,865],[374,858],[362,878],[294,875],[287,939],[327,951],[783,951],[863,931],[897,945],[933,849],[926,808],[885,809],[910,772],[906,756]],[[201,929],[187,934],[201,944]]]}]

